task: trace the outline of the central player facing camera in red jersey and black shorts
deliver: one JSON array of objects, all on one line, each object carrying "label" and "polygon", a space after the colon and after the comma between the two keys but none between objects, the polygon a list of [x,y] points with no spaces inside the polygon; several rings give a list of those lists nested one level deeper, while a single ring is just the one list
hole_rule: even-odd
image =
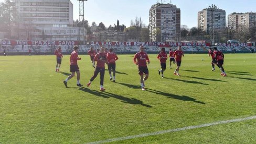
[{"label": "central player facing camera in red jersey and black shorts", "polygon": [[[144,52],[144,46],[140,46],[140,52],[135,54],[133,62],[138,65],[138,74],[141,76],[141,89],[145,90],[145,80],[148,78],[147,63],[150,64],[150,59],[147,53]],[[145,77],[143,78],[144,74]]]}]

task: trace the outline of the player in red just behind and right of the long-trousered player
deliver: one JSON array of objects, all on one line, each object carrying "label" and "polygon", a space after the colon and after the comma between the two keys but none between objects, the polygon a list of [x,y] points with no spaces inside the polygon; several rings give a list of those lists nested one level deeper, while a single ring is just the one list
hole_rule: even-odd
[{"label": "player in red just behind and right of the long-trousered player", "polygon": [[112,80],[111,69],[113,70],[113,82],[115,82],[115,61],[118,60],[118,56],[113,52],[113,49],[109,49],[109,53],[106,54],[106,59],[108,59],[108,69],[110,80]]}]

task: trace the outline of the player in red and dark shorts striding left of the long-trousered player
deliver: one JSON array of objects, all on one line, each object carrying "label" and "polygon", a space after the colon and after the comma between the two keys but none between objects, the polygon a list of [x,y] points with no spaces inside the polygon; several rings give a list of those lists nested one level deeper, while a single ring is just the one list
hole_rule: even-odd
[{"label": "player in red and dark shorts striding left of the long-trousered player", "polygon": [[68,78],[63,81],[66,88],[68,87],[67,86],[68,80],[70,80],[74,76],[75,72],[77,73],[77,86],[79,86],[79,87],[83,86],[80,83],[80,71],[79,71],[79,67],[77,65],[77,60],[81,60],[81,57],[78,57],[77,51],[78,51],[78,46],[74,46],[74,51],[71,53],[70,59],[69,59],[71,75],[68,76]]}]

